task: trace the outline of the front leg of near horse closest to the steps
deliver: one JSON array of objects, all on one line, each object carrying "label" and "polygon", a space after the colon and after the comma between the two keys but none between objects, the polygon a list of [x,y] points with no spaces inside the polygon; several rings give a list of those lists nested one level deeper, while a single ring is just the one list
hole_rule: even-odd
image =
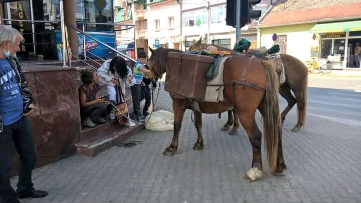
[{"label": "front leg of near horse closest to the steps", "polygon": [[182,127],[183,115],[187,109],[183,105],[185,100],[173,98],[173,111],[174,111],[174,128],[173,139],[170,145],[164,150],[163,155],[173,155],[178,149],[179,131]]}]

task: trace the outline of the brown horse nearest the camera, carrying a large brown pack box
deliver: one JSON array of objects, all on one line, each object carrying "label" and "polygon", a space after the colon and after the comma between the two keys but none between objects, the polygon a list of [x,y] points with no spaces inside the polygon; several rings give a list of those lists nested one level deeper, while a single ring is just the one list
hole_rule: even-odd
[{"label": "brown horse nearest the camera, carrying a large brown pack box", "polygon": [[[153,79],[156,81],[163,73],[169,71],[167,54],[180,52],[174,49],[158,48],[151,51],[147,62]],[[248,75],[247,75],[248,71]],[[245,76],[248,76],[245,78]],[[169,81],[166,81],[169,82]],[[286,165],[282,152],[282,130],[278,106],[277,73],[269,67],[267,62],[248,56],[235,56],[225,62],[224,68],[224,101],[219,103],[199,102],[202,113],[221,113],[234,109],[245,128],[253,149],[252,168],[246,173],[245,179],[254,181],[263,175],[261,143],[262,133],[259,130],[255,113],[257,108],[263,116],[265,144],[269,169],[271,173],[282,175]],[[246,85],[243,85],[246,84]],[[174,112],[174,130],[170,145],[164,150],[164,155],[173,155],[178,148],[178,137],[186,109],[192,109],[188,98],[170,93]],[[195,111],[195,127],[198,139],[193,149],[204,148],[202,136],[202,113]]]}]

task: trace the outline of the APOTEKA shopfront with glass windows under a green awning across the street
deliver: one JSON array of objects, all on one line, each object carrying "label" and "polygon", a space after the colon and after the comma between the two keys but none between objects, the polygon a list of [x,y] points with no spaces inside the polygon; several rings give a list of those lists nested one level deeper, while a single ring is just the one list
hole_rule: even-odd
[{"label": "APOTEKA shopfront with glass windows under a green awning across the street", "polygon": [[332,68],[355,67],[356,43],[361,44],[361,21],[317,24],[311,29],[320,39],[320,63],[332,61]]}]

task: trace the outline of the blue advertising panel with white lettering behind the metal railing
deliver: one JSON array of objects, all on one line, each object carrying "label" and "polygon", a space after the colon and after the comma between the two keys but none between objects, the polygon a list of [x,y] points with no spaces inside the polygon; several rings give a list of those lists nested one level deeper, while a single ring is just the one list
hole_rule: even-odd
[{"label": "blue advertising panel with white lettering behind the metal railing", "polygon": [[[114,32],[107,31],[96,31],[96,32],[87,32],[88,35],[97,39],[100,42],[105,43],[106,45],[115,49],[115,34]],[[83,35],[78,33],[78,53],[80,57],[84,57],[84,47],[83,47]],[[61,43],[61,32],[56,32],[56,43]],[[59,49],[59,46],[57,46]],[[89,58],[112,58],[114,52],[108,49],[107,47],[95,42],[94,40],[85,36],[85,50],[87,57]],[[98,56],[98,57],[96,57]]]}]

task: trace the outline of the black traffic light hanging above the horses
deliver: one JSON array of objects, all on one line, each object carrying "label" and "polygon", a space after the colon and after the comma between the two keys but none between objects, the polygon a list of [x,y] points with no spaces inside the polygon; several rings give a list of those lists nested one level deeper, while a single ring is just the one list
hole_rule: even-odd
[{"label": "black traffic light hanging above the horses", "polygon": [[[251,21],[261,17],[262,11],[253,10],[253,5],[261,0],[241,0],[240,26],[241,28]],[[237,0],[227,0],[226,25],[236,27],[236,4]]]}]

